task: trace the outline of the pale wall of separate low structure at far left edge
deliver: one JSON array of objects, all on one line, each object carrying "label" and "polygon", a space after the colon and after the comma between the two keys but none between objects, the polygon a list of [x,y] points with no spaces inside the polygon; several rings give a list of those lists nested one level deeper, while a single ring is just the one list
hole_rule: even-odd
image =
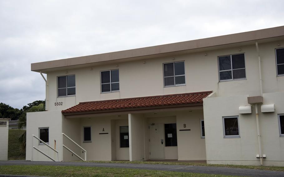
[{"label": "pale wall of separate low structure at far left edge", "polygon": [[0,121],[7,122],[7,125],[0,125],[0,160],[8,160],[9,120],[0,119]]}]

